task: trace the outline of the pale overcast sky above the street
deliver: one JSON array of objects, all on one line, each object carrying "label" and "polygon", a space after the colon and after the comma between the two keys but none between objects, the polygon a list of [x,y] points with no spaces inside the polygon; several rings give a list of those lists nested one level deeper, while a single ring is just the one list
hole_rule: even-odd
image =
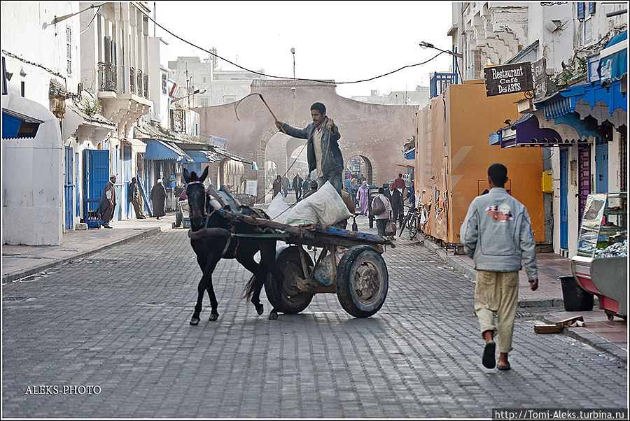
[{"label": "pale overcast sky above the street", "polygon": [[[181,38],[251,70],[272,76],[349,82],[379,76],[424,62],[450,50],[450,1],[157,1],[155,20]],[[150,22],[151,24],[151,22]],[[153,35],[153,24],[151,35]],[[159,27],[169,42],[168,59],[208,54],[178,41]],[[447,71],[452,59],[433,61],[370,82],[337,85],[344,97],[388,94],[428,86],[429,72]],[[218,60],[218,68],[234,67]]]}]

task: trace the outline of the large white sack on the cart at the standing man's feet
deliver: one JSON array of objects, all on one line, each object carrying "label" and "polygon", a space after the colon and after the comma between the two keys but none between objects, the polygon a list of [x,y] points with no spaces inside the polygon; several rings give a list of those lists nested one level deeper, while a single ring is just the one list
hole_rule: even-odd
[{"label": "large white sack on the cart at the standing man's feet", "polygon": [[327,181],[316,192],[286,212],[285,224],[332,225],[346,220],[352,214],[335,187]]}]

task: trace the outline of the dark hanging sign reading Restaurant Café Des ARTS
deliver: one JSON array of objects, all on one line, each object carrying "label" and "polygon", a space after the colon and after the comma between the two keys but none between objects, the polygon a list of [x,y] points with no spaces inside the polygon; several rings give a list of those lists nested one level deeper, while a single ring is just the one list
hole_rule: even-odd
[{"label": "dark hanging sign reading Restaurant Caf\u00e9 Des ARTS", "polygon": [[533,90],[531,63],[484,67],[486,97]]}]

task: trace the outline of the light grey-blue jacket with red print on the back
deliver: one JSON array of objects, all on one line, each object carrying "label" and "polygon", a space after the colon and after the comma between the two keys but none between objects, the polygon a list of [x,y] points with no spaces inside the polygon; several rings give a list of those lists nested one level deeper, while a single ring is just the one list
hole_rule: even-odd
[{"label": "light grey-blue jacket with red print on the back", "polygon": [[515,272],[521,269],[522,259],[528,279],[538,279],[529,214],[505,189],[493,187],[472,200],[460,236],[475,269]]}]

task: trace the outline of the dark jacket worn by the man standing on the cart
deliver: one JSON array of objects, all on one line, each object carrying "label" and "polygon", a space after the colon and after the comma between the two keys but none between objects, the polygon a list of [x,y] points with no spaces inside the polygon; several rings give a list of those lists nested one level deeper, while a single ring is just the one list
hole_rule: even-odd
[{"label": "dark jacket worn by the man standing on the cart", "polygon": [[[339,150],[339,143],[337,141],[341,138],[339,134],[339,127],[337,124],[332,124],[332,130],[328,130],[326,124],[328,124],[328,117],[322,123],[323,129],[321,132],[321,160],[323,162],[323,168],[321,172],[326,178],[335,176],[344,170],[344,158],[342,157],[341,150]],[[288,124],[283,125],[283,129],[289,136],[293,136],[300,139],[307,140],[307,160],[309,162],[309,173],[317,168],[318,162],[315,158],[315,148],[313,146],[313,132],[315,131],[315,124],[311,123],[304,129],[295,129]]]}]

